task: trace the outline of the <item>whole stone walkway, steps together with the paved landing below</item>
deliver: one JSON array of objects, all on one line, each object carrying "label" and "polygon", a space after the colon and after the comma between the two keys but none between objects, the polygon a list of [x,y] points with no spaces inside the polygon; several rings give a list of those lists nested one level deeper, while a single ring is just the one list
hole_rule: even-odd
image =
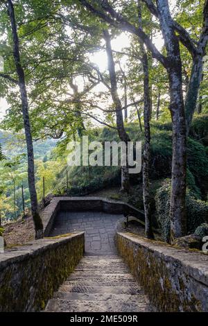
[{"label": "whole stone walkway, steps together with the paved landing below", "polygon": [[103,212],[60,212],[51,236],[85,231],[85,256],[45,311],[149,311],[143,289],[116,253],[116,221],[123,215]]}]

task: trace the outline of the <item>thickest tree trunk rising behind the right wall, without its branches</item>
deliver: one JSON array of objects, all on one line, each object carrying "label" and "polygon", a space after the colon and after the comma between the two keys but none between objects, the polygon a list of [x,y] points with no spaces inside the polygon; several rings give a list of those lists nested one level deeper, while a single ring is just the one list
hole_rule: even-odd
[{"label": "thickest tree trunk rising behind the right wall, without its branches", "polygon": [[171,241],[186,234],[186,170],[187,136],[184,100],[182,94],[182,62],[180,46],[167,0],[157,0],[159,22],[166,46],[167,72],[171,97],[171,119],[173,123],[173,158],[171,179]]}]

